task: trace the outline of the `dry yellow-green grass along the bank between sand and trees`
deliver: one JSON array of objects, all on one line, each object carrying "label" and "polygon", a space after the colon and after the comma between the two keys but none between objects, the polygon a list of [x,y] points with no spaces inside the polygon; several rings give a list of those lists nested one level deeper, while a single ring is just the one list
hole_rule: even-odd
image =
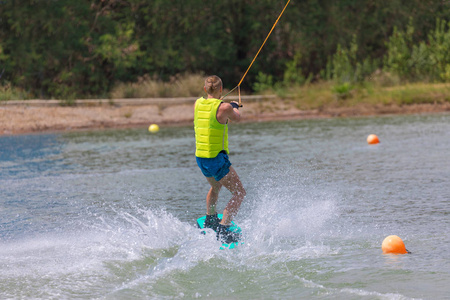
[{"label": "dry yellow-green grass along the bank between sand and trees", "polygon": [[[178,76],[170,82],[142,78],[136,83],[117,84],[110,98],[199,97],[202,96],[203,80],[202,75]],[[260,94],[276,94],[301,110],[350,108],[358,105],[442,104],[450,102],[450,83],[422,82],[386,86],[376,82],[336,84],[323,81],[291,88],[268,88]],[[27,100],[27,93],[13,87],[3,87],[0,89],[0,101],[8,100]],[[61,105],[67,104],[70,103],[61,100]]]}]

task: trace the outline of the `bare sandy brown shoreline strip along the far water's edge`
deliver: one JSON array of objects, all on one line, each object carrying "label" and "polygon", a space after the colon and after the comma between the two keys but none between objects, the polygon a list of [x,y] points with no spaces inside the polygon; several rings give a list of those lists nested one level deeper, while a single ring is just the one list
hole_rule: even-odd
[{"label": "bare sandy brown shoreline strip along the far water's edge", "polygon": [[[300,110],[290,101],[244,103],[243,122],[450,112],[450,103],[408,106],[328,107]],[[150,124],[192,124],[193,103],[142,105],[30,106],[0,104],[0,135],[105,128],[145,128]]]}]

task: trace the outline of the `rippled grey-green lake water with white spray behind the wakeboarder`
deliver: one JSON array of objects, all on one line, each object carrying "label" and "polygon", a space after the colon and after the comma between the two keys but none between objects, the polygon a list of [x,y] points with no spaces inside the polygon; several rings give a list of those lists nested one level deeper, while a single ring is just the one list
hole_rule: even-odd
[{"label": "rippled grey-green lake water with white spray behind the wakeboarder", "polygon": [[232,124],[229,251],[195,225],[193,134],[0,137],[0,299],[449,298],[450,114]]}]

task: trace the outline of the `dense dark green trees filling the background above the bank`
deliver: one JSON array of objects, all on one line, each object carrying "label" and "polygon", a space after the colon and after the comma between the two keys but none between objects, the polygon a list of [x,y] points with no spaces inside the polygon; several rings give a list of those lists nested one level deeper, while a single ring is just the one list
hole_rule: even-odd
[{"label": "dense dark green trees filling the background above the bank", "polygon": [[[148,76],[238,83],[286,1],[0,1],[0,86],[107,97]],[[242,87],[320,79],[450,81],[450,2],[292,0]]]}]

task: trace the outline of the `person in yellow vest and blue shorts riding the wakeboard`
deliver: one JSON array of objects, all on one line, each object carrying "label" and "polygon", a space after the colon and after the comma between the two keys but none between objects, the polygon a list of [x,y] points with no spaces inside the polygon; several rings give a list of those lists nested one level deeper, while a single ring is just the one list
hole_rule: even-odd
[{"label": "person in yellow vest and blue shorts riding the wakeboard", "polygon": [[[223,87],[218,76],[206,78],[204,90],[208,97],[195,102],[194,127],[197,164],[211,185],[206,196],[205,227],[216,231],[218,240],[232,243],[240,238],[229,228],[244,200],[245,189],[228,159],[228,120],[237,122],[241,115],[236,102],[225,103],[220,100]],[[231,192],[232,197],[220,220],[216,203],[222,186]]]}]

